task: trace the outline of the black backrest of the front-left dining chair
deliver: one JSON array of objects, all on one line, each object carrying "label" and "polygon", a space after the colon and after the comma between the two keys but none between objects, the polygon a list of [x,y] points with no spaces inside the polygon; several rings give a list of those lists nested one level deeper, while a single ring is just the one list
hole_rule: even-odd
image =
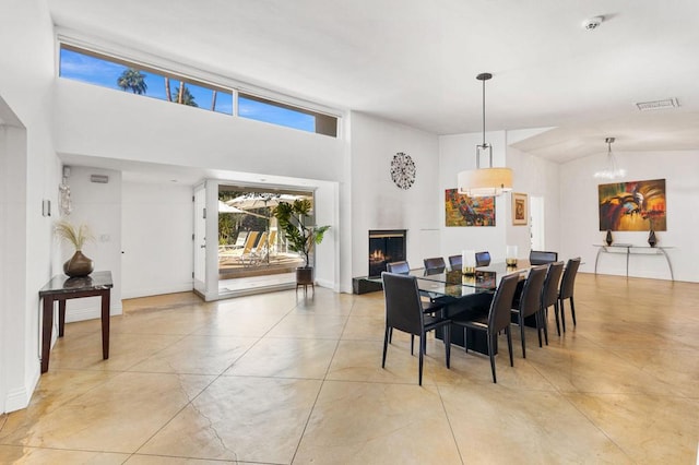
[{"label": "black backrest of the front-left dining chair", "polygon": [[422,334],[424,314],[415,276],[382,272],[381,279],[387,325],[410,334]]}]

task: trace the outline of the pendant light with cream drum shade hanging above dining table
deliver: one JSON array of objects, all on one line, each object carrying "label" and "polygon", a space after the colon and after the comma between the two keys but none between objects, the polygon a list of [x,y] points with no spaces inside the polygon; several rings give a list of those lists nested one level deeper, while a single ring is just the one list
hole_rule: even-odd
[{"label": "pendant light with cream drum shade hanging above dining table", "polygon": [[[512,190],[512,170],[493,167],[493,146],[485,142],[485,82],[490,78],[490,73],[476,76],[483,82],[483,143],[476,145],[476,169],[460,171],[458,176],[459,193],[469,196],[500,195]],[[486,151],[488,167],[481,168],[481,156]]]}]

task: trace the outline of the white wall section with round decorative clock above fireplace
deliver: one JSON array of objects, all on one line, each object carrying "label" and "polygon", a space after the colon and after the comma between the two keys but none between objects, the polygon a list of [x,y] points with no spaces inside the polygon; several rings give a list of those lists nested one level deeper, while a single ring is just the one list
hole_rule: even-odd
[{"label": "white wall section with round decorative clock above fireplace", "polygon": [[[410,155],[416,180],[408,190],[391,180],[396,152]],[[407,229],[407,261],[422,267],[438,255],[438,138],[403,124],[352,112],[352,275],[369,272],[369,229]]]}]

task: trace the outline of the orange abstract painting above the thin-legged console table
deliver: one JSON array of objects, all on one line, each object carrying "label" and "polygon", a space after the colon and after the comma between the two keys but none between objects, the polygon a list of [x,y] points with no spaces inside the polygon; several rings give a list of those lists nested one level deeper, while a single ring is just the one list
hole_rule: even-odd
[{"label": "orange abstract painting above the thin-legged console table", "polygon": [[665,180],[600,184],[600,230],[664,231]]}]

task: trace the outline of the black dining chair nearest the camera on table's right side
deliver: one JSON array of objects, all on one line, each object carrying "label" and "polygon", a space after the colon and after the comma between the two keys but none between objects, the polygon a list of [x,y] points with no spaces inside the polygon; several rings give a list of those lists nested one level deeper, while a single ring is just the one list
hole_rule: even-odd
[{"label": "black dining chair nearest the camera on table's right side", "polygon": [[512,308],[512,299],[514,298],[514,291],[517,290],[517,284],[520,276],[518,274],[510,274],[503,276],[498,285],[493,301],[490,302],[490,310],[488,315],[476,320],[452,320],[453,324],[463,326],[463,346],[469,351],[469,343],[466,341],[467,330],[485,332],[488,338],[488,356],[490,357],[490,370],[493,371],[493,382],[497,383],[495,375],[495,346],[498,334],[505,330],[507,336],[507,348],[510,354],[510,367],[514,367],[514,360],[512,358],[512,333],[510,331],[510,309]]}]

